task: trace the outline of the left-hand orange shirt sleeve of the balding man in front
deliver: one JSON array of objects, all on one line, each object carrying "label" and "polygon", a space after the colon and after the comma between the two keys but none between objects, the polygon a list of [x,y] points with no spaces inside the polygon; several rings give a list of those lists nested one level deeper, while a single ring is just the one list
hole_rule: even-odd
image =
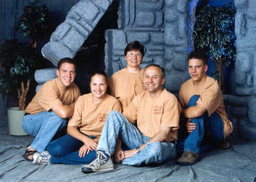
[{"label": "left-hand orange shirt sleeve of the balding man in front", "polygon": [[126,107],[123,111],[123,115],[129,120],[129,122],[134,123],[137,120],[138,111],[138,96],[133,98],[133,101]]}]

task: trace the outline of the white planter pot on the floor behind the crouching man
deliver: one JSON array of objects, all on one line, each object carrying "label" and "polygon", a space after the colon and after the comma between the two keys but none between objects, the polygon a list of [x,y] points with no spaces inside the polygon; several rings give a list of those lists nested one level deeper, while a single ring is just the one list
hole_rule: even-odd
[{"label": "white planter pot on the floor behind the crouching man", "polygon": [[9,134],[17,136],[28,135],[22,128],[22,119],[24,117],[25,111],[19,110],[19,107],[10,107],[7,109],[7,114]]}]

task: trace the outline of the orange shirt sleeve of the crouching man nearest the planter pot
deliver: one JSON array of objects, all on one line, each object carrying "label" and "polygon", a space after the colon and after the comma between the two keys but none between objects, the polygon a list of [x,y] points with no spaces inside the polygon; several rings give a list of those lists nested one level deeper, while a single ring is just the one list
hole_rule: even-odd
[{"label": "orange shirt sleeve of the crouching man nearest the planter pot", "polygon": [[38,103],[47,111],[57,104],[63,104],[59,99],[59,92],[51,86],[43,85],[44,89]]}]

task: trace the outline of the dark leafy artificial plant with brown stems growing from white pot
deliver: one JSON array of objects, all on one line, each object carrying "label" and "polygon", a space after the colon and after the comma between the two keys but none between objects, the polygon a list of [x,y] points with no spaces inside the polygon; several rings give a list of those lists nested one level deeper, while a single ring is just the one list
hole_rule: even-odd
[{"label": "dark leafy artificial plant with brown stems growing from white pot", "polygon": [[34,73],[40,68],[42,57],[31,44],[18,40],[6,40],[0,46],[0,92],[19,102],[25,109],[26,95],[30,84],[35,83]]}]

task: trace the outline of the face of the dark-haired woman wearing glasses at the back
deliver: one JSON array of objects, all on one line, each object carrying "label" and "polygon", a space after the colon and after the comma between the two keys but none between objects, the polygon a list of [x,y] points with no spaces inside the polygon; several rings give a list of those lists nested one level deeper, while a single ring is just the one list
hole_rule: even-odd
[{"label": "face of the dark-haired woman wearing glasses at the back", "polygon": [[128,51],[125,56],[127,62],[127,67],[139,68],[141,65],[143,56],[139,50],[135,49],[133,51]]}]

